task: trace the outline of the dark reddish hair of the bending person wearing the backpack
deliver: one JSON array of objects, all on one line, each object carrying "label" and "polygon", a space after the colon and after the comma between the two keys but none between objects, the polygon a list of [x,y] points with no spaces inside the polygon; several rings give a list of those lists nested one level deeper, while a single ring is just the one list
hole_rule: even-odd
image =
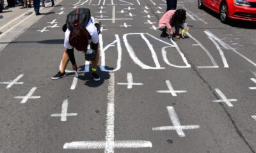
[{"label": "dark reddish hair of the bending person wearing the backpack", "polygon": [[85,28],[75,27],[69,34],[69,44],[76,50],[86,52],[90,34]]}]

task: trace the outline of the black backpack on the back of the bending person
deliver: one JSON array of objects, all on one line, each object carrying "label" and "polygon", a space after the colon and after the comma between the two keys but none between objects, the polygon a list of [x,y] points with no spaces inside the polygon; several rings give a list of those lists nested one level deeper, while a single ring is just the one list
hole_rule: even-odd
[{"label": "black backpack on the back of the bending person", "polygon": [[88,8],[77,8],[67,15],[67,28],[72,31],[74,27],[85,28],[91,18],[91,11]]}]

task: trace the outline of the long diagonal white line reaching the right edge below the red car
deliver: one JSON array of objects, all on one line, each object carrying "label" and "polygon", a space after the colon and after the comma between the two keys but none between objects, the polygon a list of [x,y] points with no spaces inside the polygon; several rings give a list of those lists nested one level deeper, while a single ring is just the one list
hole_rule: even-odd
[{"label": "long diagonal white line reaching the right edge below the red car", "polygon": [[241,57],[243,57],[246,61],[250,62],[251,64],[253,64],[253,66],[256,66],[256,63],[253,62],[252,60],[248,59],[247,57],[245,57],[243,54],[237,52],[237,50],[235,50],[234,48],[230,47],[230,45],[228,45],[227,43],[223,42],[220,40],[220,38],[218,38],[217,36],[215,36],[214,34],[211,33],[211,31],[205,30],[205,33],[209,36],[211,36],[212,38],[214,38],[214,40],[218,41],[218,43],[221,44],[221,46],[223,46],[225,49],[230,49],[233,52],[235,52],[237,55],[240,55]]}]

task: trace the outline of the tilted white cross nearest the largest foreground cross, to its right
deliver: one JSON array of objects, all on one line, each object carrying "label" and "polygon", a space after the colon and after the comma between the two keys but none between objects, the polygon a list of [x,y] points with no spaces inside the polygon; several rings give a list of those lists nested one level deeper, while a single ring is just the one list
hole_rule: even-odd
[{"label": "tilted white cross nearest the largest foreground cross, to its right", "polygon": [[160,126],[160,127],[152,128],[153,131],[175,130],[180,137],[184,137],[184,136],[186,136],[183,131],[184,129],[199,129],[200,128],[200,126],[198,126],[198,125],[181,126],[180,120],[179,120],[174,108],[172,106],[167,106],[166,108],[168,110],[170,119],[172,120],[173,126]]}]

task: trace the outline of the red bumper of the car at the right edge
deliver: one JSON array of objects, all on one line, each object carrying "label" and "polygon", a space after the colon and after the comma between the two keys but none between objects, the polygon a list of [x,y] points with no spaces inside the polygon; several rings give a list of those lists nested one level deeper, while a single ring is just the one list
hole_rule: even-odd
[{"label": "red bumper of the car at the right edge", "polygon": [[235,6],[233,4],[228,11],[228,16],[230,18],[256,21],[256,8],[246,8],[243,6]]}]

